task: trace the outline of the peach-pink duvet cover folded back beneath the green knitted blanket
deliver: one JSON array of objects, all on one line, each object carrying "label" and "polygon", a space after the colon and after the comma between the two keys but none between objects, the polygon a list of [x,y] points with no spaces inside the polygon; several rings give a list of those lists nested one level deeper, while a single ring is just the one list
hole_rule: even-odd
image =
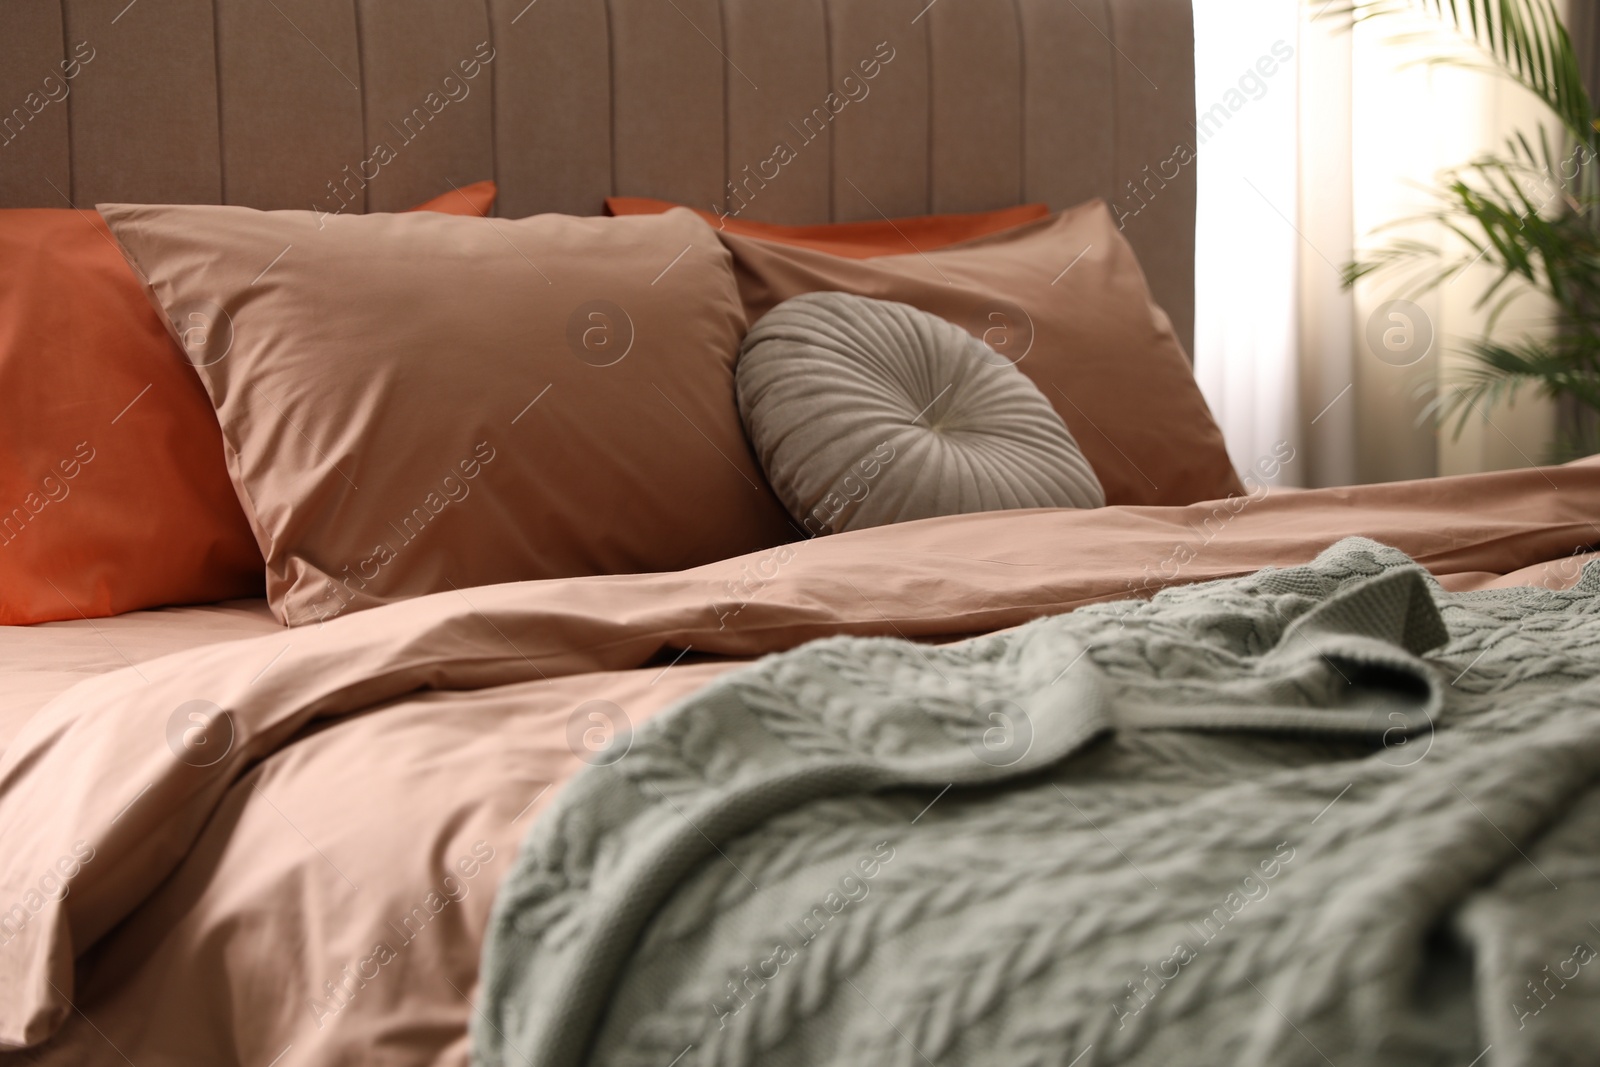
[{"label": "peach-pink duvet cover folded back beneath the green knitted blanket", "polygon": [[438,593],[91,678],[0,758],[0,1043],[32,1046],[0,1064],[464,1064],[530,822],[624,720],[744,657],[955,640],[1349,534],[1451,589],[1565,587],[1597,518],[1592,462],[968,515]]}]

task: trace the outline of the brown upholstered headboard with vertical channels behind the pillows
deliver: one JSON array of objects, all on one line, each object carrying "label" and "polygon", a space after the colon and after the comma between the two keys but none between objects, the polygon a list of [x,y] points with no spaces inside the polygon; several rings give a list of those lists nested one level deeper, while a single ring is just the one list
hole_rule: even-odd
[{"label": "brown upholstered headboard with vertical channels behind the pillows", "polygon": [[504,216],[1098,195],[1192,334],[1190,0],[5,0],[0,107],[8,208],[386,211],[483,178]]}]

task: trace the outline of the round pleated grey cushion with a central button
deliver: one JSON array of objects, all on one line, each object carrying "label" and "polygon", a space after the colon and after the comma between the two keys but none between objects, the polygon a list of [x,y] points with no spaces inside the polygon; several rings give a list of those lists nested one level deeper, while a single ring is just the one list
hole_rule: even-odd
[{"label": "round pleated grey cushion with a central button", "polygon": [[784,301],[744,339],[736,384],[766,478],[806,534],[1106,502],[1034,382],[907,304]]}]

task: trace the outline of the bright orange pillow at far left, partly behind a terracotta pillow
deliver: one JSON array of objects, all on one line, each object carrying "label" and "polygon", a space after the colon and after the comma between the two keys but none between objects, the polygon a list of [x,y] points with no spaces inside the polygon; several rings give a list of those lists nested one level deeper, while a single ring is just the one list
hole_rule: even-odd
[{"label": "bright orange pillow at far left, partly behind a terracotta pillow", "polygon": [[[494,182],[416,210],[486,214]],[[0,211],[0,624],[259,597],[205,387],[94,211]]]}]

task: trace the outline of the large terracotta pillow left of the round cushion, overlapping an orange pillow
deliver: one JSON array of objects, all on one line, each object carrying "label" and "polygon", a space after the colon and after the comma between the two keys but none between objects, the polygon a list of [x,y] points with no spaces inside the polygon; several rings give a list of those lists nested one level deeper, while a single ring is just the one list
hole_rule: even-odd
[{"label": "large terracotta pillow left of the round cushion, overlapping an orange pillow", "polygon": [[280,619],[797,536],[690,211],[490,224],[106,205],[200,368]]}]

